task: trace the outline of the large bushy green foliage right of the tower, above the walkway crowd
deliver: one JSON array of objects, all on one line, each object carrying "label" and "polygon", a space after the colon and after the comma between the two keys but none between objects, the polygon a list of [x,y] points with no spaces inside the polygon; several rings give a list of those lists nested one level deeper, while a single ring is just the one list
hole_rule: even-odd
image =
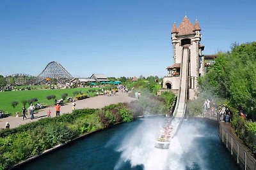
[{"label": "large bushy green foliage right of the tower, above the walkway crowd", "polygon": [[228,99],[231,106],[256,118],[256,42],[238,45],[218,53],[218,58],[200,79],[201,92],[212,92]]}]

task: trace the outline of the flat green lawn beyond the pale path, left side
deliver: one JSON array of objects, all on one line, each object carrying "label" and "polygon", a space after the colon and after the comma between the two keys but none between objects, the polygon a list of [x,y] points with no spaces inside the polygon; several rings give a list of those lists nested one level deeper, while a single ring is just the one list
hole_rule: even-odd
[{"label": "flat green lawn beyond the pale path, left side", "polygon": [[[55,95],[56,99],[61,99],[61,94],[67,93],[69,97],[74,97],[73,92],[83,91],[88,92],[89,89],[98,90],[99,88],[76,88],[76,89],[45,89],[45,90],[21,90],[12,92],[0,92],[0,110],[4,113],[15,113],[22,110],[21,101],[26,101],[32,98],[37,98],[39,103],[47,106],[53,106],[54,100],[46,99],[46,96]],[[12,101],[17,101],[19,104],[13,108]],[[35,103],[36,104],[36,103]],[[28,108],[28,103],[26,108]]]}]

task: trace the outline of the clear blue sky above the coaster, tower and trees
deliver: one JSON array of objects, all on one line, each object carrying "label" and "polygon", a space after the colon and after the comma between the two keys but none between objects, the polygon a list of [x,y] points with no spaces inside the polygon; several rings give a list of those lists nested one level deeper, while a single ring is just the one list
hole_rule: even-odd
[{"label": "clear blue sky above the coaster, tower and trees", "polygon": [[202,29],[203,54],[256,39],[255,0],[1,0],[0,75],[40,74],[52,61],[76,77],[167,75],[173,23]]}]

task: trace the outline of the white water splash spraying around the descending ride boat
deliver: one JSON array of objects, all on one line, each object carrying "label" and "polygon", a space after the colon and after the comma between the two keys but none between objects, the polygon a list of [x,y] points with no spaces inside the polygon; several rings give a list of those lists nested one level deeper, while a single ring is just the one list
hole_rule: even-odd
[{"label": "white water splash spraying around the descending ride boat", "polygon": [[121,157],[115,166],[115,169],[122,169],[123,162],[129,161],[132,167],[143,166],[145,170],[162,170],[162,169],[186,169],[192,167],[194,162],[200,162],[200,167],[204,166],[204,162],[199,153],[194,154],[195,157],[189,157],[184,162],[184,155],[189,150],[193,150],[193,140],[201,138],[196,132],[195,125],[182,126],[179,134],[175,136],[168,150],[155,148],[156,139],[159,135],[159,125],[163,122],[159,120],[144,120],[138,128],[127,134],[122,141],[122,145],[118,147]]}]

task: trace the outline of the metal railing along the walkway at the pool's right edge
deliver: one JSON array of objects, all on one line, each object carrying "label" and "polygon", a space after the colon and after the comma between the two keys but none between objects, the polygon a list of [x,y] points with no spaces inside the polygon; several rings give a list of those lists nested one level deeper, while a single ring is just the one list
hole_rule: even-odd
[{"label": "metal railing along the walkway at the pool's right edge", "polygon": [[237,164],[240,164],[243,169],[256,170],[256,162],[250,152],[247,152],[230,132],[220,124],[219,135],[221,141],[225,144],[226,148],[230,151],[232,157],[236,159]]}]

